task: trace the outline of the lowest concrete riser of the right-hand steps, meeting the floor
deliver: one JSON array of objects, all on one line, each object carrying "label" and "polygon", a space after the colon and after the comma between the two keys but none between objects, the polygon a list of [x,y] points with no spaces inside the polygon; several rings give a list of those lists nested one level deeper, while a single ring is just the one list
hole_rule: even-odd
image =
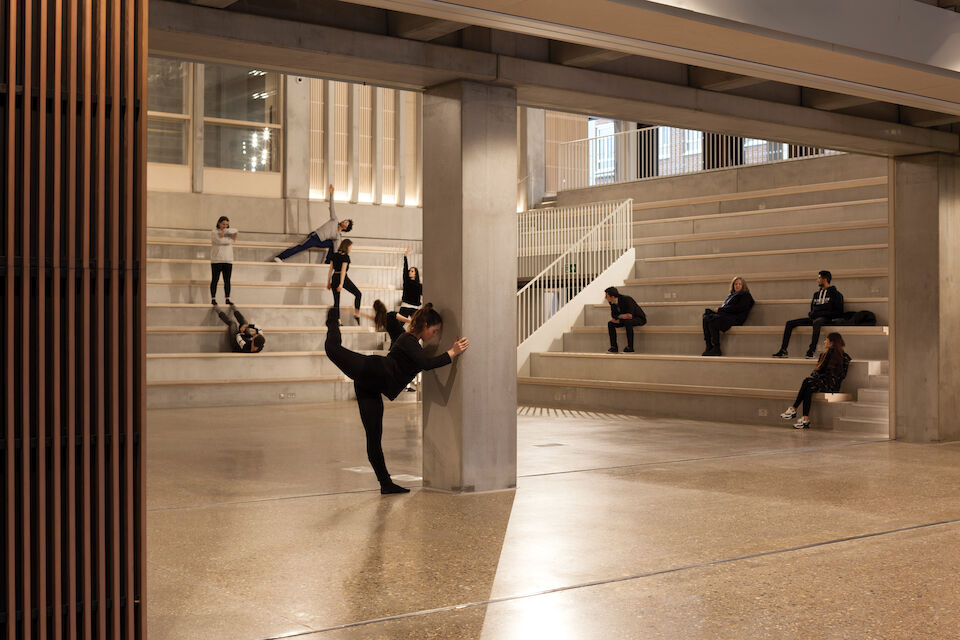
[{"label": "lowest concrete riser of the right-hand steps, meeting the floor", "polygon": [[[536,383],[518,385],[517,396],[521,404],[559,409],[623,411],[668,418],[769,425],[791,430],[793,424],[793,421],[779,417],[792,404],[792,400],[787,399],[556,387]],[[810,412],[814,428],[832,429],[843,404],[814,402]]]}]

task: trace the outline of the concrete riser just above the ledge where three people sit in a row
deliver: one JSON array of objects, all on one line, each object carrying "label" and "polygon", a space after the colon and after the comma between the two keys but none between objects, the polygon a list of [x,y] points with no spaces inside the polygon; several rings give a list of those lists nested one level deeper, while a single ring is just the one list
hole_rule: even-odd
[{"label": "concrete riser just above the ledge where three people sit in a row", "polygon": [[[628,294],[629,295],[629,294]],[[856,300],[856,299],[854,299]],[[650,325],[700,325],[702,322],[703,310],[707,307],[716,309],[721,301],[714,303],[698,305],[664,305],[645,304],[640,302],[644,313],[647,314],[647,321]],[[847,302],[844,308],[853,311],[869,310],[877,316],[877,324],[885,325],[887,323],[887,303],[886,302]],[[783,325],[787,320],[806,317],[810,311],[808,302],[801,303],[764,303],[759,301],[753,305],[750,315],[747,317],[746,324],[753,326],[776,326]],[[610,319],[609,305],[590,305],[585,310],[584,324],[587,326],[605,326]],[[838,329],[842,331],[841,329]]]}]

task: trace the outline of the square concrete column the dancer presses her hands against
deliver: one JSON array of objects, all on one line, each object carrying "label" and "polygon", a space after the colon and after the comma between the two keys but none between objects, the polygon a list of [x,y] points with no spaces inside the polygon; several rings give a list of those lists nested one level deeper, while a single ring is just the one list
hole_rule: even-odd
[{"label": "square concrete column the dancer presses her hands against", "polygon": [[517,102],[512,88],[458,81],[423,101],[424,301],[441,348],[470,350],[424,374],[423,484],[516,486]]}]

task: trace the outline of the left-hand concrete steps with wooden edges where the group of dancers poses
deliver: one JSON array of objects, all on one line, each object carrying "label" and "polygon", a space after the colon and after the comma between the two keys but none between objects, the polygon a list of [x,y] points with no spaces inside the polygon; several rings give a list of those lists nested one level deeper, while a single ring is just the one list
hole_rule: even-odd
[{"label": "left-hand concrete steps with wooden edges where the group of dancers poses", "polygon": [[[151,229],[147,239],[147,407],[263,405],[325,402],[352,397],[352,383],[323,351],[326,315],[333,302],[326,288],[329,265],[320,252],[272,262],[301,238],[242,233],[234,245],[231,299],[246,319],[264,331],[262,353],[233,353],[226,326],[210,304],[209,232]],[[396,309],[401,296],[402,256],[407,246],[390,240],[354,239],[351,279],[363,292],[362,310],[372,314],[380,298]],[[419,247],[415,247],[418,250]],[[218,289],[220,309],[222,281]],[[353,324],[353,296],[341,296],[344,345],[361,353],[384,353],[385,334],[364,319]],[[406,394],[405,394],[406,395]],[[409,394],[413,396],[415,394]],[[406,399],[401,396],[401,399]],[[410,399],[413,399],[412,397]]]}]

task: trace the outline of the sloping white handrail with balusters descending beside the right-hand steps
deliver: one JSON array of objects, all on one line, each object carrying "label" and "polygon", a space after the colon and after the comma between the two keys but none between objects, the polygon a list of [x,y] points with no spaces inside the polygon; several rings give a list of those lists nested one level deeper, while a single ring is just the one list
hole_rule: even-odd
[{"label": "sloping white handrail with balusters descending beside the right-hand steps", "polygon": [[[518,345],[633,246],[632,198],[581,206],[609,207],[611,210],[517,291]],[[560,231],[575,231],[577,228]],[[548,234],[557,232],[557,229],[547,231]],[[520,242],[523,242],[522,239]],[[518,261],[524,257],[535,260],[538,257],[536,248],[528,248],[528,251],[521,248]],[[539,248],[547,255],[552,253],[549,244],[544,243]]]}]

